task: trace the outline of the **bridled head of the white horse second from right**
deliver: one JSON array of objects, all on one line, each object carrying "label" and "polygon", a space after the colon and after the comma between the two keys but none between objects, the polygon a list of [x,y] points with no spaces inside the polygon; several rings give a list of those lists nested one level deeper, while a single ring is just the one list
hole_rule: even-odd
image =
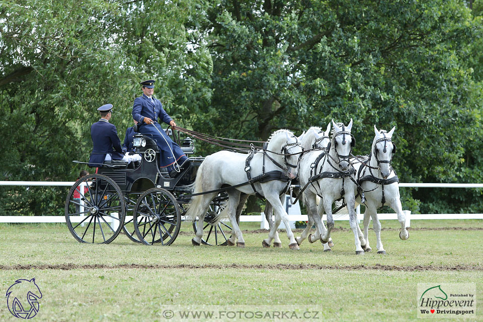
[{"label": "bridled head of the white horse second from right", "polygon": [[334,120],[332,120],[332,125],[334,126],[334,133],[332,134],[330,144],[331,148],[329,150],[329,153],[331,153],[332,157],[337,160],[339,168],[342,171],[346,171],[347,169],[349,169],[350,154],[352,148],[356,143],[354,136],[351,134],[352,118],[347,126],[345,126],[344,124],[342,124],[342,126],[338,126],[334,122]]}]

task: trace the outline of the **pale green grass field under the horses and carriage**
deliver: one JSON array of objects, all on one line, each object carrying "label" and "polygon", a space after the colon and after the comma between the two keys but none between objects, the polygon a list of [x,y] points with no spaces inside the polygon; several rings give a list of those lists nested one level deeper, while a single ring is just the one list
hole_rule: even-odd
[{"label": "pale green grass field under the horses and carriage", "polygon": [[[162,305],[219,304],[303,306],[318,311],[317,320],[416,320],[423,282],[474,283],[477,302],[483,298],[483,221],[411,224],[403,241],[396,221],[382,221],[385,256],[376,254],[372,230],[373,251],[356,256],[346,222],[336,222],[332,253],[306,241],[290,251],[284,231],[282,249],[263,249],[267,232],[252,231],[255,223],[241,226],[245,249],[195,248],[188,223],[170,247],[141,246],[125,235],[110,245],[85,245],[65,225],[3,224],[1,289],[35,277],[43,294],[35,321],[159,321]],[[18,320],[2,303],[0,320]]]}]

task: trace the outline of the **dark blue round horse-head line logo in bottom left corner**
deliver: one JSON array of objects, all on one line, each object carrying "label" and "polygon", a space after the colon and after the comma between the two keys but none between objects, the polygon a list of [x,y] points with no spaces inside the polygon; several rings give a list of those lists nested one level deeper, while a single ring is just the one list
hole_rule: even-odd
[{"label": "dark blue round horse-head line logo in bottom left corner", "polygon": [[7,305],[10,313],[18,318],[32,318],[39,311],[39,299],[42,292],[35,283],[35,278],[31,280],[16,280],[7,290]]}]

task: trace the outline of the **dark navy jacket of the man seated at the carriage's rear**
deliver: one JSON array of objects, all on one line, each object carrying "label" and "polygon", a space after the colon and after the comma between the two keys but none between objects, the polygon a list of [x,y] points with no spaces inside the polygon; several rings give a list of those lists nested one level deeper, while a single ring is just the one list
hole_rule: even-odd
[{"label": "dark navy jacket of the man seated at the carriage's rear", "polygon": [[91,126],[93,149],[89,158],[90,167],[99,167],[104,163],[106,153],[111,154],[113,160],[121,160],[121,140],[117,136],[116,126],[107,121],[99,120]]}]

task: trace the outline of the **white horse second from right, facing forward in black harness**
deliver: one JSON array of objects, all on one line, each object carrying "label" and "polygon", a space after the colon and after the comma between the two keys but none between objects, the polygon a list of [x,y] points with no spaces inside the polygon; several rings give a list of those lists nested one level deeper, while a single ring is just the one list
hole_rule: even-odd
[{"label": "white horse second from right, facing forward in black harness", "polygon": [[[306,153],[299,162],[299,179],[303,190],[303,198],[310,209],[312,218],[319,233],[322,244],[328,243],[331,230],[334,228],[334,218],[332,215],[332,204],[335,200],[344,198],[349,209],[349,222],[354,232],[356,254],[364,254],[361,245],[365,246],[365,240],[360,233],[355,214],[355,191],[356,184],[354,179],[354,169],[350,164],[349,155],[355,144],[355,139],[351,134],[352,119],[349,125],[342,127],[332,121],[334,133],[328,146],[329,152],[322,156],[317,163],[316,160],[320,153]],[[313,165],[313,166],[312,166]],[[312,168],[313,167],[313,168]],[[303,189],[303,188],[302,188]],[[321,197],[321,202],[316,205],[316,196]],[[327,214],[327,228],[321,220],[324,213]],[[310,230],[310,227],[308,228]],[[324,245],[327,250],[327,246]]]}]

